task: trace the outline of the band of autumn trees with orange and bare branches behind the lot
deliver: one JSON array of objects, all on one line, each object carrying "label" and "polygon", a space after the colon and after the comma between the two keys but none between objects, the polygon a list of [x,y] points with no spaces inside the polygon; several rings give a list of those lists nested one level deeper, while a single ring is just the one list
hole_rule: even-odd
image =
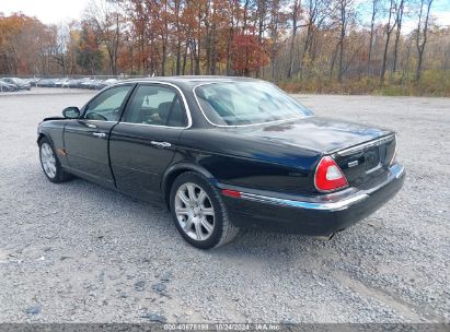
[{"label": "band of autumn trees with orange and bare branches behind the lot", "polygon": [[435,24],[432,1],[93,0],[58,26],[0,14],[0,74],[226,74],[449,96],[450,26]]}]

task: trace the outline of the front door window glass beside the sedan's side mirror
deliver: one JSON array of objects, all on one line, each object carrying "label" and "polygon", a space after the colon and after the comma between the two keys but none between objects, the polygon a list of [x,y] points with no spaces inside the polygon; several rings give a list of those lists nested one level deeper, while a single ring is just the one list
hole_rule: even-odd
[{"label": "front door window glass beside the sedan's side mirror", "polygon": [[84,118],[101,121],[118,121],[120,107],[131,87],[130,85],[124,85],[103,92],[89,103]]}]

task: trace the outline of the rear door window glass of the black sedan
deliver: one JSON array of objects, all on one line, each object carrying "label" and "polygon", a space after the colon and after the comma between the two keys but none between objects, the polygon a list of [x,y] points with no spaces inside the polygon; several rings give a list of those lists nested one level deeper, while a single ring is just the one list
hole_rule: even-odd
[{"label": "rear door window glass of the black sedan", "polygon": [[185,127],[186,114],[171,87],[141,85],[124,114],[123,122]]}]

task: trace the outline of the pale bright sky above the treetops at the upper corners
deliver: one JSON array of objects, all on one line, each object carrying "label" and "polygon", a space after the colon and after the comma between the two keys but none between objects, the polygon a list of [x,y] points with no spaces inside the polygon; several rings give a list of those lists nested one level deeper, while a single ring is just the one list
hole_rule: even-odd
[{"label": "pale bright sky above the treetops at the upper corners", "polygon": [[[59,24],[82,19],[90,1],[92,0],[0,0],[0,12],[5,15],[22,12],[28,16],[36,16],[45,24]],[[450,0],[434,0],[431,14],[439,25],[450,25]],[[405,20],[405,33],[415,27],[415,20]]]}]

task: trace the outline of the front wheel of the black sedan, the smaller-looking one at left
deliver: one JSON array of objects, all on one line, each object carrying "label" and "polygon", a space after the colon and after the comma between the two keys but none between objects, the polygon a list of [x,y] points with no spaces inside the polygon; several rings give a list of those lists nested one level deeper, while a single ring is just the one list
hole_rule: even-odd
[{"label": "front wheel of the black sedan, the smaller-looking one at left", "polygon": [[47,138],[43,138],[39,141],[39,161],[45,176],[51,182],[60,183],[72,178],[70,174],[62,169],[61,163],[59,163],[58,156],[55,153],[55,147]]}]

